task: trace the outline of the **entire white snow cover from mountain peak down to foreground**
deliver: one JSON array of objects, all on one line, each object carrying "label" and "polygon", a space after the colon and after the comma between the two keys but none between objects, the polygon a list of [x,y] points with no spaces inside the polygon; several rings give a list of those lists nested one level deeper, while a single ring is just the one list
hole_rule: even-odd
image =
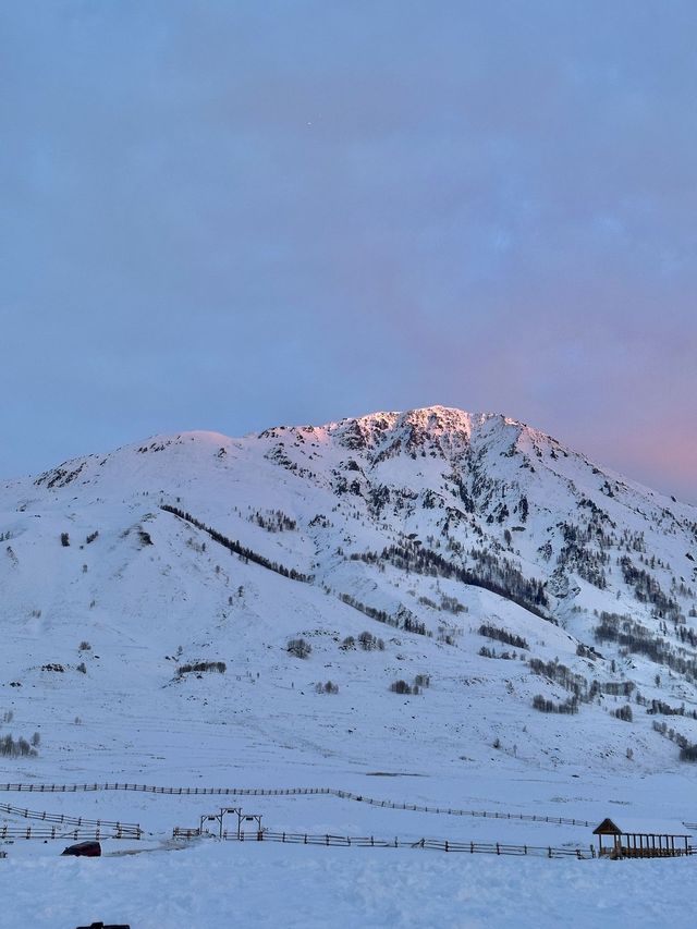
[{"label": "entire white snow cover from mountain peak down to foreground", "polygon": [[[0,487],[0,739],[40,736],[36,757],[0,757],[0,782],[322,786],[590,823],[0,790],[147,833],[98,860],[60,858],[66,833],[0,845],[0,926],[693,925],[697,858],[179,848],[171,834],[229,803],[271,831],[414,842],[588,849],[592,827],[624,814],[685,831],[696,558],[694,508],[523,424],[444,407],[159,436]],[[297,638],[306,659],[288,651]],[[182,673],[200,662],[224,671]],[[418,675],[419,694],[390,689]],[[329,681],[338,693],[317,693]],[[577,712],[539,712],[536,696]],[[625,707],[631,721],[614,716]],[[126,849],[142,854],[111,854]]]}]

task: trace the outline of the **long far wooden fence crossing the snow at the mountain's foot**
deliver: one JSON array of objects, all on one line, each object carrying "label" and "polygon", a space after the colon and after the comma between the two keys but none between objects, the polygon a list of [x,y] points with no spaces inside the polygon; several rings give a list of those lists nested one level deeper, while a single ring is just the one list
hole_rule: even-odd
[{"label": "long far wooden fence crossing the snow at the mountain's foot", "polygon": [[[453,807],[419,806],[418,804],[394,803],[393,800],[378,800],[366,797],[363,794],[354,794],[350,791],[340,791],[335,787],[279,787],[266,790],[264,787],[157,787],[147,784],[0,784],[0,791],[29,791],[35,793],[84,793],[88,791],[136,791],[148,794],[167,794],[169,796],[254,796],[254,797],[278,797],[278,796],[334,796],[340,799],[365,803],[369,806],[379,806],[388,809],[403,809],[413,812],[435,812],[443,816],[473,816],[482,819],[518,819],[525,822],[549,822],[555,826],[591,826],[585,819],[565,819],[558,816],[535,816],[526,812],[491,812],[489,810],[456,809]],[[84,822],[85,820],[83,820]]]}]

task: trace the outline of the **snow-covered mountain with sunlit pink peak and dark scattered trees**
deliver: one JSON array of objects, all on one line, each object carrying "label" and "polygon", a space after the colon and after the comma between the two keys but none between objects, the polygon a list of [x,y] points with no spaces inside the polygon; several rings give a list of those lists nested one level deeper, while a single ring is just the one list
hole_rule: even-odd
[{"label": "snow-covered mountain with sunlit pink peak and dark scattered trees", "polygon": [[697,510],[503,416],[158,436],[5,484],[0,539],[32,772],[692,770]]}]

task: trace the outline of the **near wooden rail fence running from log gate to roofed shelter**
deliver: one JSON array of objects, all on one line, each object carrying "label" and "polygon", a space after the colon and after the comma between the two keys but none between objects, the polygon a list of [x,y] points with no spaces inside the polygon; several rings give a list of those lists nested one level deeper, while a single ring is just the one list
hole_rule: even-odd
[{"label": "near wooden rail fence running from log gate to roofed shelter", "polygon": [[[173,839],[194,839],[200,829],[175,827]],[[356,848],[427,848],[437,852],[464,852],[470,855],[535,855],[545,858],[595,858],[592,846],[584,848],[555,848],[550,845],[509,845],[502,842],[452,842],[449,839],[376,839],[374,835],[331,835],[307,832],[223,832],[228,842],[282,842],[291,845],[325,845],[326,847]]]}]

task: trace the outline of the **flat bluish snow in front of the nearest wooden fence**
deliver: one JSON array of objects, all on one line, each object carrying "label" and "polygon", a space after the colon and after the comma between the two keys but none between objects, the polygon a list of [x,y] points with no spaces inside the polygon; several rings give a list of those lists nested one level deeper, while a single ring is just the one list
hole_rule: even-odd
[{"label": "flat bluish snow in front of the nearest wooden fence", "polygon": [[34,848],[0,873],[2,929],[26,918],[37,929],[97,919],[133,929],[695,925],[692,859],[547,861],[211,841],[93,860]]}]

